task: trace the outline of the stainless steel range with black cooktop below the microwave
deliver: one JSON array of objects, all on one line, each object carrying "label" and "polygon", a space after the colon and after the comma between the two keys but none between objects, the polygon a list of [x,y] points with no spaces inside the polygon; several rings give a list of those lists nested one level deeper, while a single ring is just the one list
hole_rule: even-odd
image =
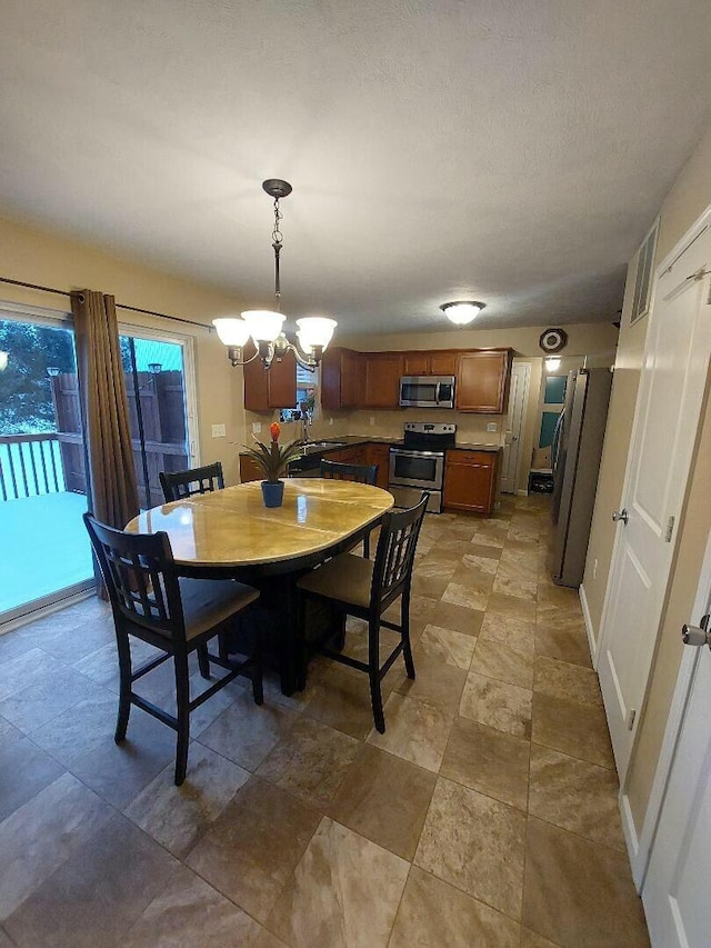
[{"label": "stainless steel range with black cooktop below the microwave", "polygon": [[454,447],[455,425],[431,421],[405,421],[402,447],[390,448],[388,489],[397,507],[412,507],[422,490],[430,491],[427,509],[442,509],[444,452]]}]

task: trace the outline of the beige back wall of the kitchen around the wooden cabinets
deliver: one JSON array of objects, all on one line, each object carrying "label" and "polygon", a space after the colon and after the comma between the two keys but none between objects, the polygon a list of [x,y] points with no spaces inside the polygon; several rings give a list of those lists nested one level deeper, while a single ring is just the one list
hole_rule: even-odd
[{"label": "beige back wall of the kitchen around the wooden cabinets", "polygon": [[[490,349],[511,348],[515,361],[531,363],[531,385],[525,425],[522,433],[523,465],[517,489],[525,489],[528,482],[529,459],[538,436],[540,426],[540,390],[541,390],[541,350],[539,339],[547,326],[533,326],[519,329],[452,329],[440,332],[412,332],[382,336],[338,336],[338,345],[357,349],[361,352],[382,352],[390,350],[422,349]],[[612,365],[617,346],[618,330],[608,323],[581,323],[567,326],[568,345],[564,351],[565,366],[574,368],[583,362],[588,365]],[[338,330],[337,330],[338,332]],[[264,425],[279,412],[256,413],[246,412],[248,430],[252,422]],[[503,416],[470,415],[468,412],[430,411],[400,409],[393,411],[327,411],[319,415],[313,426],[312,437],[338,437],[338,435],[363,435],[383,438],[399,438],[402,435],[404,421],[453,421],[457,425],[457,436],[460,441],[481,445],[501,445],[503,442]],[[332,423],[331,423],[332,420]],[[487,430],[487,425],[494,422],[497,431]],[[287,437],[297,438],[300,426],[287,426]],[[538,443],[538,441],[535,441]]]}]

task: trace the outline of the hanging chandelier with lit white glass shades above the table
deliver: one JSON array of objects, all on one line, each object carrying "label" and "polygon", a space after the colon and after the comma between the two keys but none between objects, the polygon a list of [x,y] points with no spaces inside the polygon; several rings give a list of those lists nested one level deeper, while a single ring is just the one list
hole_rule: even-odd
[{"label": "hanging chandelier with lit white glass shades above the table", "polygon": [[[304,317],[297,320],[299,346],[294,346],[287,339],[283,331],[286,317],[281,313],[281,283],[279,280],[279,258],[283,243],[279,227],[283,214],[279,201],[281,198],[289,197],[292,188],[288,181],[281,181],[279,178],[269,178],[267,181],[262,181],[262,188],[274,199],[274,228],[271,234],[271,246],[274,250],[274,309],[250,309],[241,313],[241,318],[213,319],[212,325],[217,329],[220,341],[227,346],[228,359],[233,366],[246,366],[259,357],[264,369],[269,369],[274,359],[281,362],[287,352],[293,352],[297,362],[312,372],[321,361],[338,323],[334,319],[327,319],[322,316]],[[250,337],[257,351],[250,359],[243,359],[242,350]]]}]

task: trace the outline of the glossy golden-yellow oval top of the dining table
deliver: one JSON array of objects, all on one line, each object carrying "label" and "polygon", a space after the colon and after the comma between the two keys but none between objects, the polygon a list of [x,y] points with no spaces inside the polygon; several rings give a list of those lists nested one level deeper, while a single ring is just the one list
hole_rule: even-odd
[{"label": "glossy golden-yellow oval top of the dining table", "polygon": [[264,507],[261,482],[248,481],[153,507],[134,517],[133,533],[164,530],[184,566],[250,567],[328,550],[369,523],[394,500],[387,490],[352,481],[287,478],[281,507]]}]

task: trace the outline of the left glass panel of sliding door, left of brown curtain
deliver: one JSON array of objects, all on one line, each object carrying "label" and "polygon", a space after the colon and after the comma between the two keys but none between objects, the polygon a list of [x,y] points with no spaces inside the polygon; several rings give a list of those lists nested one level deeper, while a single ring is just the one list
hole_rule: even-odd
[{"label": "left glass panel of sliding door, left of brown curtain", "polygon": [[91,588],[93,566],[71,323],[0,311],[0,350],[2,623]]}]

